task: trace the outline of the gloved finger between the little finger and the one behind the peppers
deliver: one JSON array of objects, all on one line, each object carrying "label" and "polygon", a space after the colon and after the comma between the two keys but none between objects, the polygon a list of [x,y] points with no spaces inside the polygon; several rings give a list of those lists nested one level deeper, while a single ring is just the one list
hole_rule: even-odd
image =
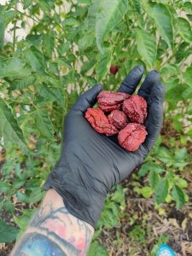
[{"label": "gloved finger between the little finger and the one behind the peppers", "polygon": [[149,72],[141,88],[138,90],[138,95],[143,96],[143,98],[147,100],[154,84],[156,84],[159,80],[160,80],[159,72],[155,70],[152,70],[151,72]]}]

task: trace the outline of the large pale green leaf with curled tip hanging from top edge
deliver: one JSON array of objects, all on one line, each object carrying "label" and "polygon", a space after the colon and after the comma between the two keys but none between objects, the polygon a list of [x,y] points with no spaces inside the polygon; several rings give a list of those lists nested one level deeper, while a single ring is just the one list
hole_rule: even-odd
[{"label": "large pale green leaf with curled tip hanging from top edge", "polygon": [[102,0],[96,14],[96,44],[103,53],[102,42],[128,10],[127,0]]}]

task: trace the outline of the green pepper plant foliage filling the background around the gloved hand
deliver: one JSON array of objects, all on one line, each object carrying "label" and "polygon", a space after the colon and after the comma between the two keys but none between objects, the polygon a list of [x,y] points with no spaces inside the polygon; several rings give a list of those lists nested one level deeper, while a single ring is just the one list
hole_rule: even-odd
[{"label": "green pepper plant foliage filling the background around the gloved hand", "polygon": [[[158,211],[162,203],[183,207],[190,197],[192,3],[10,0],[0,5],[0,17],[0,208],[16,224],[0,219],[0,242],[15,240],[43,198],[68,108],[97,81],[116,90],[136,65],[146,73],[160,71],[166,114],[162,135],[133,174],[131,189],[154,197]],[[13,41],[5,40],[5,31]],[[20,31],[26,36],[21,38]],[[119,67],[115,76],[111,65]],[[108,195],[90,255],[108,255],[96,239],[103,228],[119,226],[125,218],[126,191],[126,185],[118,185]],[[130,236],[137,239],[141,233],[136,227]]]}]

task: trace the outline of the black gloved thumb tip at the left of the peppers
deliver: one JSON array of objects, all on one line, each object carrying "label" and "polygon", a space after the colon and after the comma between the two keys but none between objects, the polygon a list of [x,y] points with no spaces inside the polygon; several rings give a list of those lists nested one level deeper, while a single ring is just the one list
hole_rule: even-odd
[{"label": "black gloved thumb tip at the left of the peppers", "polygon": [[74,104],[73,110],[79,110],[84,113],[87,108],[93,107],[96,103],[96,96],[102,91],[102,84],[96,84],[90,90],[87,90],[79,96],[78,101]]}]

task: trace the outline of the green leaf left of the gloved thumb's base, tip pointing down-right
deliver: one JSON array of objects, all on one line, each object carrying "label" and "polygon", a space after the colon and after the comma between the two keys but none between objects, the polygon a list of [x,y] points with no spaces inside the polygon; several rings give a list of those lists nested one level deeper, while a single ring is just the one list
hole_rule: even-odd
[{"label": "green leaf left of the gloved thumb's base, tip pointing down-right", "polygon": [[53,125],[51,120],[49,119],[48,114],[45,111],[38,108],[34,114],[36,117],[36,125],[41,135],[53,139]]}]

